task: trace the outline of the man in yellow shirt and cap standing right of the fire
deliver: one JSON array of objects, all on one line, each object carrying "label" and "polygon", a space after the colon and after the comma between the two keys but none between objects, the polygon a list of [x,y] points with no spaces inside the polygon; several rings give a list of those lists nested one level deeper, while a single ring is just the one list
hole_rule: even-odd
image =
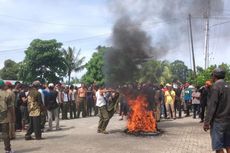
[{"label": "man in yellow shirt and cap standing right of the fire", "polygon": [[[175,103],[175,97],[176,93],[172,89],[172,85],[167,83],[166,84],[167,90],[165,91],[165,106],[167,110],[167,116],[168,117],[173,117],[173,119],[176,119],[175,116],[175,110],[174,110],[174,103]],[[170,109],[172,110],[172,114],[170,115]]]}]

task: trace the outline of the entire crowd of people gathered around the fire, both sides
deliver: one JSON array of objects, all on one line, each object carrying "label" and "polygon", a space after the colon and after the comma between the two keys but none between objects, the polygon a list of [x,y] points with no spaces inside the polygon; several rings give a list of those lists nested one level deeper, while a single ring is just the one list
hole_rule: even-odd
[{"label": "entire crowd of people gathered around the fire, both sides", "polygon": [[[194,119],[199,117],[200,123],[204,122],[205,130],[212,129],[213,123],[219,126],[219,121],[226,122],[230,119],[228,103],[225,108],[226,116],[223,117],[221,112],[215,112],[218,111],[218,98],[222,98],[220,96],[229,89],[227,87],[226,90],[223,89],[227,86],[226,84],[220,85],[221,87],[216,85],[215,81],[223,80],[223,78],[223,76],[217,77],[213,81],[214,85],[207,80],[202,87],[195,87],[189,83],[182,84],[176,80],[165,86],[142,83],[118,86],[116,89],[105,89],[95,84],[88,87],[84,84],[81,84],[81,87],[74,87],[61,83],[41,84],[39,81],[34,81],[31,85],[23,85],[20,82],[12,85],[10,82],[0,80],[0,125],[5,150],[11,153],[10,139],[15,139],[15,131],[26,131],[25,140],[33,139],[32,133],[35,134],[36,140],[40,140],[42,132],[54,130],[53,121],[55,121],[55,130],[61,130],[59,118],[67,120],[80,116],[99,115],[97,132],[108,134],[106,127],[113,114],[118,112],[121,116],[120,120],[123,120],[124,116],[129,117],[132,110],[129,108],[128,99],[138,95],[146,97],[148,102],[146,109],[153,112],[158,122],[162,118],[173,120],[181,118],[184,112],[184,117],[189,117],[191,114]],[[221,95],[213,97],[213,91],[215,91],[213,87],[216,87],[218,94]],[[225,102],[229,100],[228,95],[225,94]],[[216,101],[213,101],[215,98],[217,98]],[[210,108],[209,103],[212,103],[212,107],[216,107],[216,110]],[[117,109],[118,106],[120,106],[119,109]],[[222,106],[222,109],[224,107]],[[208,114],[206,119],[205,112]],[[219,118],[217,117],[218,121],[214,122],[216,113],[219,113]],[[46,121],[48,122],[47,128],[45,128]],[[224,126],[229,129],[228,124]],[[217,135],[220,134],[214,133],[213,137],[216,138]],[[227,136],[230,136],[229,132]],[[216,144],[215,138],[213,138],[213,148],[218,150],[220,144]],[[222,138],[223,133],[220,139]],[[226,139],[226,141],[227,145],[222,144],[222,146],[230,145],[229,140]]]}]

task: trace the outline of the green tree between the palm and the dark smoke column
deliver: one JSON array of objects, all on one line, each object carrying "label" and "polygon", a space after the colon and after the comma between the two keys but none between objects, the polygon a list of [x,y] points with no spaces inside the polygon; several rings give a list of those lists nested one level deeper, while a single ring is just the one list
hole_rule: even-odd
[{"label": "green tree between the palm and the dark smoke column", "polygon": [[105,78],[103,74],[103,65],[104,65],[104,54],[107,50],[107,47],[97,47],[97,52],[93,53],[92,58],[86,64],[87,72],[82,77],[82,81],[87,84],[92,84],[97,82],[99,84],[105,83]]}]

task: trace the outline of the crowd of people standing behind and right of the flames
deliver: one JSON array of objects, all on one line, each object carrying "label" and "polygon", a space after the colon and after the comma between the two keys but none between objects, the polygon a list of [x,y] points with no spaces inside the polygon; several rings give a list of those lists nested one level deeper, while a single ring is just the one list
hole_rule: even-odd
[{"label": "crowd of people standing behind and right of the flames", "polygon": [[123,120],[123,116],[128,116],[130,111],[127,98],[130,98],[130,95],[141,94],[147,97],[148,109],[154,112],[157,121],[162,118],[181,118],[184,112],[184,117],[189,117],[192,113],[192,117],[200,118],[202,123],[210,89],[209,80],[202,87],[194,87],[189,83],[182,84],[178,80],[165,86],[150,83],[124,85],[120,87],[120,120]]}]

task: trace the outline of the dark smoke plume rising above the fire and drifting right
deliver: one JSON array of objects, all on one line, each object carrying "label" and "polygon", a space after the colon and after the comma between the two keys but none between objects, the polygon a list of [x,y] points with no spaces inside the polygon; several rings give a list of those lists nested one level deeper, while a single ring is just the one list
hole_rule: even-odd
[{"label": "dark smoke plume rising above the fire and drifting right", "polygon": [[[188,14],[194,31],[203,31],[203,16],[219,16],[222,0],[114,0],[109,10],[115,20],[112,47],[105,54],[104,73],[109,84],[135,80],[138,65],[160,59],[188,39]],[[152,29],[159,29],[152,33]],[[163,30],[162,30],[163,29]],[[196,37],[196,36],[195,36]],[[186,41],[187,43],[188,41]]]}]

